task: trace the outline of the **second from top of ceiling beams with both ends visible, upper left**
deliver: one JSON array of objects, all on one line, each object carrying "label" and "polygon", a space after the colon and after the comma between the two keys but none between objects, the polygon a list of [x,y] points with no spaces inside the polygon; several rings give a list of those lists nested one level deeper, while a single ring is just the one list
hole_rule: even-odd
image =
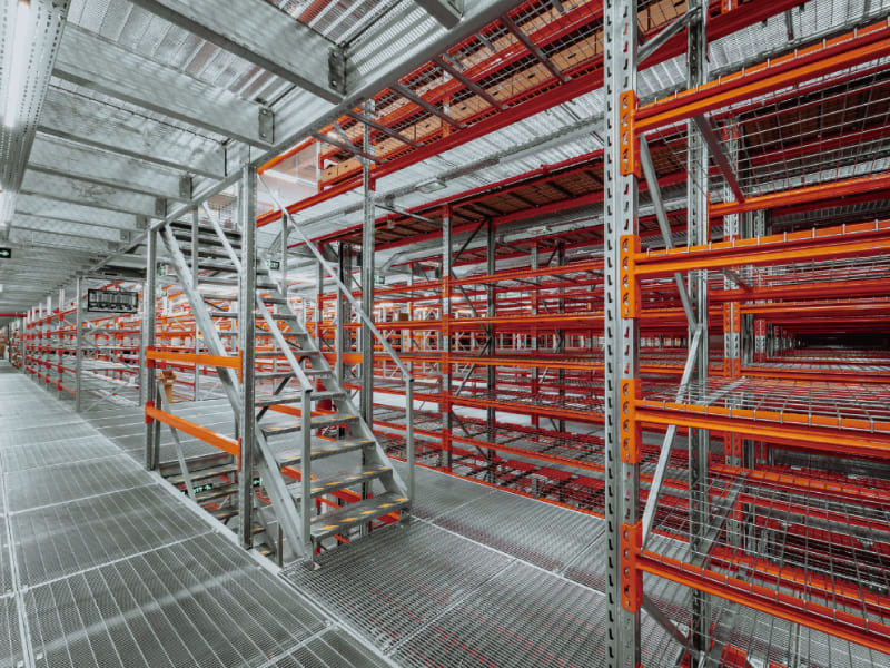
[{"label": "second from top of ceiling beams with both ends visible, upper left", "polygon": [[38,129],[190,174],[226,176],[226,150],[219,141],[56,87],[43,100]]}]

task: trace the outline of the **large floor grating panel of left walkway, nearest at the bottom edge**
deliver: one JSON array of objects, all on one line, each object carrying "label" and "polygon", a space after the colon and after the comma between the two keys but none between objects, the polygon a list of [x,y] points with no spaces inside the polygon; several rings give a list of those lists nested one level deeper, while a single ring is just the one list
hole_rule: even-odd
[{"label": "large floor grating panel of left walkway, nearest at the bottom edge", "polygon": [[198,537],[29,590],[34,650],[53,667],[254,666],[324,628],[233,547]]}]

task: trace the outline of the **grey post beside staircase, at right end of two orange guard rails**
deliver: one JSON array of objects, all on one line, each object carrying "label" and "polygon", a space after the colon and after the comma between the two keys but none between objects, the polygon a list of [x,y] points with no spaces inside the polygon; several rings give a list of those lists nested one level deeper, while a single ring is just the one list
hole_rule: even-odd
[{"label": "grey post beside staircase, at right end of two orange guard rails", "polygon": [[241,169],[238,191],[241,227],[241,275],[239,281],[238,343],[241,348],[241,470],[238,473],[238,538],[241,547],[254,547],[254,452],[256,450],[254,357],[256,352],[257,295],[257,173]]}]

